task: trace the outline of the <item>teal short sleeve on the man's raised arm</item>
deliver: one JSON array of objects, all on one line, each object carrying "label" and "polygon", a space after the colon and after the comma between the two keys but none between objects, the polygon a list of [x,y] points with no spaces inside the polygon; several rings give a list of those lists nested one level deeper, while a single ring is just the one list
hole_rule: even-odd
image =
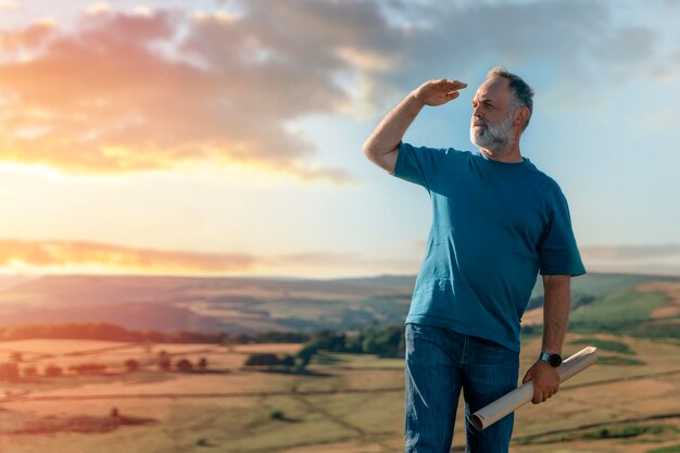
[{"label": "teal short sleeve on the man's raised arm", "polygon": [[402,141],[399,143],[393,175],[408,183],[423,186],[429,191],[438,167],[437,162],[444,154],[445,150],[443,149],[414,148]]}]

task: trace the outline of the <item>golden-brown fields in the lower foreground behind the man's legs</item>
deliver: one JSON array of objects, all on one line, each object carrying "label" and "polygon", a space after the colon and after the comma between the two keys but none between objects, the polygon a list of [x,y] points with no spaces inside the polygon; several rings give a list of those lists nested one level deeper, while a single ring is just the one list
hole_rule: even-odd
[{"label": "golden-brown fields in the lower foreground behind the man's legs", "polygon": [[[525,342],[522,372],[532,363],[538,341]],[[680,444],[680,347],[621,336],[571,335],[566,353],[584,344],[600,348],[600,363],[565,382],[549,402],[517,412],[513,451],[675,451]],[[24,366],[108,365],[106,375],[66,374],[5,383],[0,399],[3,453],[403,449],[399,358],[324,353],[306,375],[294,375],[242,365],[253,352],[291,353],[297,344],[229,350],[215,344],[22,340],[1,347],[2,360],[22,352]],[[151,365],[161,349],[173,360],[205,357],[209,366],[204,373],[162,372]],[[613,357],[634,361],[619,363]],[[127,358],[147,365],[129,373],[123,367]],[[454,451],[463,451],[462,421],[456,425]]]}]

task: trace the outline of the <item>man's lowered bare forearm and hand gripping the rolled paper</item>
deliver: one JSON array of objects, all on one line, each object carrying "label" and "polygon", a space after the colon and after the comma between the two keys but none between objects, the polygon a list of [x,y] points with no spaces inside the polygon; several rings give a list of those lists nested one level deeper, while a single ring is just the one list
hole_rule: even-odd
[{"label": "man's lowered bare forearm and hand gripping the rolled paper", "polygon": [[[541,352],[562,355],[562,344],[567,332],[571,276],[543,276],[543,345]],[[527,372],[522,383],[533,382],[533,404],[545,402],[559,388],[559,373],[547,362],[538,360]]]}]

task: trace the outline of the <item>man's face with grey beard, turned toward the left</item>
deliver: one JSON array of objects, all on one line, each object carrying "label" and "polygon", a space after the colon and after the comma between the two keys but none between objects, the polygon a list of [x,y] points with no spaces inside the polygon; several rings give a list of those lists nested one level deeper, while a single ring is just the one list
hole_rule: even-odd
[{"label": "man's face with grey beard, turned toward the left", "polygon": [[484,81],[473,99],[470,140],[490,152],[502,152],[514,140],[509,81],[494,77]]}]

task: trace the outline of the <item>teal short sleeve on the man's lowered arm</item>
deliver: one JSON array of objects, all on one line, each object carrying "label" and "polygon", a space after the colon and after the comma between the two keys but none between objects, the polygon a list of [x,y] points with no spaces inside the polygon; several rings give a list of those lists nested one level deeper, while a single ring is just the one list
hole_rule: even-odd
[{"label": "teal short sleeve on the man's lowered arm", "polygon": [[553,200],[549,223],[539,244],[541,275],[583,275],[585,267],[571,229],[567,200],[561,190]]}]

